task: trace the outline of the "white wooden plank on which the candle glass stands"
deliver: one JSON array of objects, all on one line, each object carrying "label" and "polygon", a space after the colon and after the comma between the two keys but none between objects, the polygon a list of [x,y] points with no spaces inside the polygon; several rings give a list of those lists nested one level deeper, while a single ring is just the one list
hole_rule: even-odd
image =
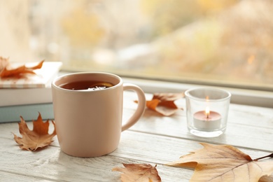
[{"label": "white wooden plank on which the candle glass stands", "polygon": [[[133,97],[127,93],[127,97]],[[151,97],[149,94],[148,97]],[[125,102],[125,118],[129,118],[136,105],[128,98]],[[180,100],[183,105],[183,99]],[[185,106],[184,106],[185,108]],[[165,117],[151,110],[130,130],[153,134],[180,137],[213,144],[230,144],[245,148],[258,148],[261,151],[273,151],[273,109],[257,106],[230,105],[228,127],[225,134],[216,138],[195,137],[188,132],[186,111],[178,111],[174,116]]]}]

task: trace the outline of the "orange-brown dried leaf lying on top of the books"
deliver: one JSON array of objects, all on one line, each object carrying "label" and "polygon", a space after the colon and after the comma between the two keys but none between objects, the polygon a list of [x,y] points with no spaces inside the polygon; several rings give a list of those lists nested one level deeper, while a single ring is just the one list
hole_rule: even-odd
[{"label": "orange-brown dried leaf lying on top of the books", "polygon": [[31,67],[27,67],[25,65],[23,66],[19,66],[16,69],[7,69],[7,67],[5,67],[1,73],[0,73],[0,77],[1,78],[7,78],[7,77],[20,77],[23,76],[24,74],[35,74],[34,69],[41,69],[41,67],[43,66],[43,61],[39,62],[36,66],[31,66]]}]

